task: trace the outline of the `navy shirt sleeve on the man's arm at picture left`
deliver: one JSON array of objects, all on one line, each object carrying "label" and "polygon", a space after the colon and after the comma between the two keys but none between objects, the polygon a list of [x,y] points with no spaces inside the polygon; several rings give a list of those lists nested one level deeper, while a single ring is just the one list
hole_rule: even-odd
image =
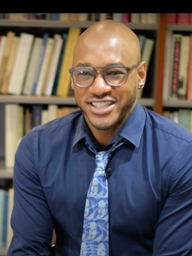
[{"label": "navy shirt sleeve on the man's arm at picture left", "polygon": [[8,256],[51,255],[53,221],[36,170],[34,131],[22,139],[15,155],[13,239]]}]

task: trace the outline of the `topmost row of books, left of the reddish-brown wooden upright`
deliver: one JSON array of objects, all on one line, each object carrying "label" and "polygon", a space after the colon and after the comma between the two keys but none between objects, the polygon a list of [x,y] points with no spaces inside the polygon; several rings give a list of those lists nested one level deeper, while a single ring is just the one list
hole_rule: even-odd
[{"label": "topmost row of books, left of the reddish-brown wooden upright", "polygon": [[72,21],[72,22],[86,22],[86,21],[103,21],[116,20],[119,22],[131,23],[151,23],[158,22],[158,14],[116,14],[116,13],[10,13],[0,14],[0,19],[9,20],[56,20],[56,21]]}]

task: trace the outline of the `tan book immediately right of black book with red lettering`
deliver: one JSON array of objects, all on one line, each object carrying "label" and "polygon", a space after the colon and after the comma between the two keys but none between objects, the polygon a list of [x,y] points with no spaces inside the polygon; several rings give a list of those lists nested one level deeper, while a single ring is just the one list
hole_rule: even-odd
[{"label": "tan book immediately right of black book with red lettering", "polygon": [[178,70],[178,86],[177,86],[178,99],[186,99],[186,96],[187,96],[188,64],[189,64],[189,36],[183,35],[182,41],[181,41],[181,51],[180,51],[179,70]]}]

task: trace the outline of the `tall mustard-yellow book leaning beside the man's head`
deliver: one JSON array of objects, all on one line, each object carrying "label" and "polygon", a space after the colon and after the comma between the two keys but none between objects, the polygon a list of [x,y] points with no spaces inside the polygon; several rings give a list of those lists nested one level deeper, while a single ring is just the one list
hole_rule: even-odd
[{"label": "tall mustard-yellow book leaning beside the man's head", "polygon": [[73,60],[73,49],[80,35],[80,28],[70,28],[67,36],[65,55],[63,65],[60,72],[57,96],[67,97],[70,88],[71,76],[70,76],[70,64]]}]

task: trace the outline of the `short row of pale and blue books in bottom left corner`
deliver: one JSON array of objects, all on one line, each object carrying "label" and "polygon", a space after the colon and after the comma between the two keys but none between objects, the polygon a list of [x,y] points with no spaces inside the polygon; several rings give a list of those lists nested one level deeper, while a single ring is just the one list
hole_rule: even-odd
[{"label": "short row of pale and blue books in bottom left corner", "polygon": [[0,189],[0,248],[9,247],[13,237],[10,219],[13,210],[14,189]]}]

